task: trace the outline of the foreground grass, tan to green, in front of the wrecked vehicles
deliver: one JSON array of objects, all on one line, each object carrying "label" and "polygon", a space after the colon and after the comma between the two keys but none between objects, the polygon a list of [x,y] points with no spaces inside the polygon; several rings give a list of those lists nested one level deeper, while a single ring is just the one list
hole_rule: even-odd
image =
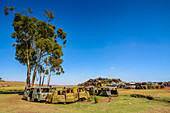
[{"label": "foreground grass, tan to green, in front of the wrecked vehicles", "polygon": [[107,103],[46,104],[21,100],[21,95],[1,94],[0,112],[60,112],[60,113],[168,113],[170,104],[143,98],[119,96]]}]

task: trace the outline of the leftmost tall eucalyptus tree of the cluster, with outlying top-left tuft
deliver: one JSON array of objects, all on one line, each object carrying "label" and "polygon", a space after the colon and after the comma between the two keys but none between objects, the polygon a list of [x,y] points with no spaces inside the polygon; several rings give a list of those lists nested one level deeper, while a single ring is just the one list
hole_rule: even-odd
[{"label": "leftmost tall eucalyptus tree of the cluster, with outlying top-left tuft", "polygon": [[[14,32],[11,37],[16,41],[16,43],[13,44],[16,48],[15,59],[27,66],[26,84],[27,86],[30,86],[31,69],[35,64],[36,59],[36,51],[34,50],[33,42],[38,19],[28,16],[28,13],[32,13],[30,8],[20,13],[15,13],[14,9],[14,7],[5,7],[4,11],[5,15],[8,15],[9,12],[14,14],[14,20],[12,22]],[[25,13],[25,15],[23,15],[23,13]]]}]

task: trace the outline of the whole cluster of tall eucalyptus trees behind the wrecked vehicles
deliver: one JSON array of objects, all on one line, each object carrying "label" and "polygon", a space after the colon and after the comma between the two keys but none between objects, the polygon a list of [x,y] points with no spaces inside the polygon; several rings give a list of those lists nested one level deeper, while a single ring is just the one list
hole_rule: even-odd
[{"label": "whole cluster of tall eucalyptus trees behind the wrecked vehicles", "polygon": [[4,13],[14,14],[14,32],[11,37],[15,39],[15,59],[27,66],[27,87],[34,85],[36,77],[39,78],[39,85],[43,85],[46,75],[49,85],[51,75],[64,73],[61,56],[67,33],[61,28],[56,30],[56,26],[51,25],[55,16],[48,10],[44,12],[44,21],[32,17],[30,8],[16,13],[14,7],[5,7]]}]

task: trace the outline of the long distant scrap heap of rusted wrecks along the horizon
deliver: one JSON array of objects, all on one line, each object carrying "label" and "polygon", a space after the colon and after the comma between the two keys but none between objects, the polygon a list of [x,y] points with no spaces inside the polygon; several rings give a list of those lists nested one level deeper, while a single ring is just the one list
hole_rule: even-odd
[{"label": "long distant scrap heap of rusted wrecks along the horizon", "polygon": [[[116,87],[116,88],[125,88],[125,89],[162,89],[164,88],[163,82],[138,82],[138,83],[126,83],[122,82],[120,79],[108,79],[108,78],[96,78],[89,79],[88,81],[78,84],[78,86],[94,86],[97,88],[100,87]],[[168,85],[166,85],[168,86]]]}]

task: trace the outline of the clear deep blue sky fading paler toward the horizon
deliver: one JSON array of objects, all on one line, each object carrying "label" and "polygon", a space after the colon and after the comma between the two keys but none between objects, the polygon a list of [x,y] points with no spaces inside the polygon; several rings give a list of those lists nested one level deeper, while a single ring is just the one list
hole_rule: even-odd
[{"label": "clear deep blue sky fading paler toward the horizon", "polygon": [[26,67],[15,60],[13,16],[31,8],[44,20],[53,11],[52,24],[67,32],[63,68],[51,84],[78,84],[90,78],[120,78],[127,82],[170,80],[169,0],[1,0],[0,77],[25,81]]}]

